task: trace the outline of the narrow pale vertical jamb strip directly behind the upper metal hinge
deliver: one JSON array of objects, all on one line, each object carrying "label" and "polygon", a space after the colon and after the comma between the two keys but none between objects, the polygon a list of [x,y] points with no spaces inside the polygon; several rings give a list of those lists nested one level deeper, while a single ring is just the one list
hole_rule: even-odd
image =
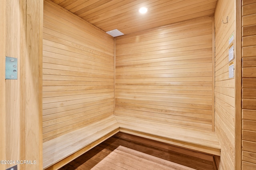
[{"label": "narrow pale vertical jamb strip directly behind the upper metal hinge", "polygon": [[[23,1],[20,3],[22,4]],[[20,47],[22,13],[20,4],[6,1],[6,46],[8,57],[18,59],[18,79],[5,80],[5,160],[20,160]],[[5,168],[13,165],[8,164]],[[20,169],[20,165],[18,165]]]}]

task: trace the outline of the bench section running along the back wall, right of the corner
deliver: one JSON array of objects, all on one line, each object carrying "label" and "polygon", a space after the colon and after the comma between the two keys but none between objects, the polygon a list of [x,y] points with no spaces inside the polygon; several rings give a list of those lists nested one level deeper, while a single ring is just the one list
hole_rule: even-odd
[{"label": "bench section running along the back wall, right of the corner", "polygon": [[118,115],[116,120],[121,132],[220,156],[220,144],[212,131]]}]

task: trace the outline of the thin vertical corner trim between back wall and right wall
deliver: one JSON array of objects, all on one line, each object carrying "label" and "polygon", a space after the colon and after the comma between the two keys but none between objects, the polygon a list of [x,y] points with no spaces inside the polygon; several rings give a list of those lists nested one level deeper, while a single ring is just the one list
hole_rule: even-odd
[{"label": "thin vertical corner trim between back wall and right wall", "polygon": [[212,17],[212,131],[215,130],[215,20]]}]

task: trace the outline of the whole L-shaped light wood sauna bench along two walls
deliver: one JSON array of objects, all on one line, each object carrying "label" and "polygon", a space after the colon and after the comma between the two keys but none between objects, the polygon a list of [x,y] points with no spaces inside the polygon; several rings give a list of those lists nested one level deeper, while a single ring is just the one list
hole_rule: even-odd
[{"label": "whole L-shaped light wood sauna bench along two walls", "polygon": [[220,156],[218,138],[212,131],[112,115],[43,143],[43,169],[61,168],[119,131]]}]

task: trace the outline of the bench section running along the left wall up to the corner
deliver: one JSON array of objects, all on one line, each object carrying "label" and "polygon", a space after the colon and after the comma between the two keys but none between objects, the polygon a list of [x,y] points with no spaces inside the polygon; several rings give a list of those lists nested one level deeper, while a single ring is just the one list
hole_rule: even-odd
[{"label": "bench section running along the left wall up to the corner", "polygon": [[43,169],[56,170],[118,133],[113,116],[43,143]]}]

